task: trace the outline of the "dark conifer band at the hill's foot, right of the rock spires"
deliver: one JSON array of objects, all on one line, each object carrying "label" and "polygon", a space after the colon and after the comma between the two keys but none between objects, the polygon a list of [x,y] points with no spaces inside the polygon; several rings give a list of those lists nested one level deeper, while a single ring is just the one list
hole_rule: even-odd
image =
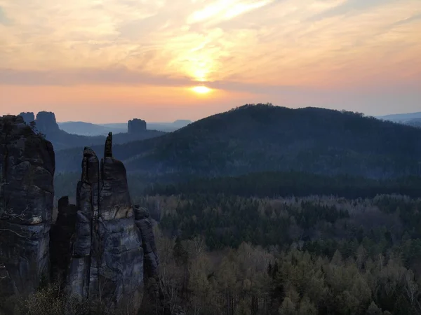
[{"label": "dark conifer band at the hill's foot, right of the rock spires", "polygon": [[348,175],[322,176],[304,172],[264,172],[236,177],[191,179],[182,183],[154,183],[147,187],[145,193],[147,195],[223,193],[245,197],[334,195],[353,199],[396,193],[421,197],[421,177],[375,180]]}]

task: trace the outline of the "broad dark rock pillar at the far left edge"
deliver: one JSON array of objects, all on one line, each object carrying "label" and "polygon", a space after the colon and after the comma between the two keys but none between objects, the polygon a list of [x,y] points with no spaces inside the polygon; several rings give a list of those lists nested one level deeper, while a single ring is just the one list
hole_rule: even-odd
[{"label": "broad dark rock pillar at the far left edge", "polygon": [[0,264],[8,294],[32,292],[49,277],[53,146],[21,116],[0,118]]}]

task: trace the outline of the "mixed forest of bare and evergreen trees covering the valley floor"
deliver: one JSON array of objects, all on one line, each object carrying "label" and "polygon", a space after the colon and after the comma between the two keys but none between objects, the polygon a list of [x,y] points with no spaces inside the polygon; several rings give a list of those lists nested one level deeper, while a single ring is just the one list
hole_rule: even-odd
[{"label": "mixed forest of bare and evergreen trees covering the valley floor", "polygon": [[[187,314],[420,314],[420,199],[148,196]],[[218,311],[216,311],[218,310]]]}]

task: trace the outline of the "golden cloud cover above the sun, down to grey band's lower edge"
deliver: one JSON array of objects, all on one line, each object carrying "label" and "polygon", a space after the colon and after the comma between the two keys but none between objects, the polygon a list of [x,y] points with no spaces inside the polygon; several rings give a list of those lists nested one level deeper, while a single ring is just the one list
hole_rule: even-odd
[{"label": "golden cloud cover above the sun, down to grey band's lower edge", "polygon": [[385,86],[421,71],[419,0],[186,3],[0,0],[0,82],[258,93]]}]

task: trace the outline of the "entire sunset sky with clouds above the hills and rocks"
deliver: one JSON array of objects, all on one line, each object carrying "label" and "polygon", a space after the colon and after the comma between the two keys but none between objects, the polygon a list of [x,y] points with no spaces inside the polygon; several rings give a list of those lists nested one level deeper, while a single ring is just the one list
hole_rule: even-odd
[{"label": "entire sunset sky with clouds above the hills and rocks", "polygon": [[0,115],[408,113],[421,111],[420,56],[421,0],[0,0]]}]

